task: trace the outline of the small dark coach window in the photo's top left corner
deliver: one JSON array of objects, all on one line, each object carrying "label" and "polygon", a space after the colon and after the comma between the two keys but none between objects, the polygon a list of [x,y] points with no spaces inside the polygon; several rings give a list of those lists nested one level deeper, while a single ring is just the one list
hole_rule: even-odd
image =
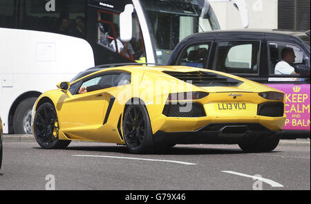
[{"label": "small dark coach window in the photo's top left corner", "polygon": [[15,28],[15,1],[0,1],[0,27]]}]

